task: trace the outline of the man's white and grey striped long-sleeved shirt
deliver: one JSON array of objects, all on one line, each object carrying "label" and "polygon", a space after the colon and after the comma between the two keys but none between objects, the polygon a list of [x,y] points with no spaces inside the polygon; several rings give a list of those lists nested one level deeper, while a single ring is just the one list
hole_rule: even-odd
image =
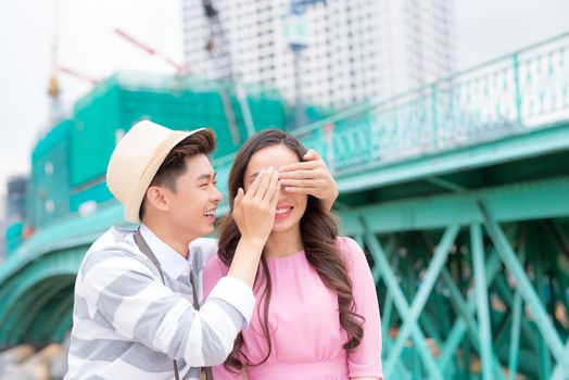
[{"label": "man's white and grey striped long-sleeved shirt", "polygon": [[255,299],[236,278],[222,278],[200,311],[192,306],[190,270],[201,283],[215,242],[192,244],[186,261],[146,226],[140,231],[161,263],[165,286],[134,231],[113,227],[99,238],[75,282],[65,380],[174,379],[173,359],[180,379],[198,379],[199,367],[223,363],[249,325]]}]

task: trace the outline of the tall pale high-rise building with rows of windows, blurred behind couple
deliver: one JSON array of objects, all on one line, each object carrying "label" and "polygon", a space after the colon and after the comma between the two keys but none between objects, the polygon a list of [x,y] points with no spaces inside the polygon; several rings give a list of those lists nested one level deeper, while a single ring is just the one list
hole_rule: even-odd
[{"label": "tall pale high-rise building with rows of windows, blurred behind couple", "polygon": [[[232,71],[294,97],[293,54],[284,37],[289,0],[216,2]],[[304,14],[309,49],[302,52],[304,98],[346,106],[392,97],[432,83],[455,67],[450,0],[334,0]],[[205,45],[210,29],[200,0],[184,0],[184,43],[189,66],[216,76]]]}]

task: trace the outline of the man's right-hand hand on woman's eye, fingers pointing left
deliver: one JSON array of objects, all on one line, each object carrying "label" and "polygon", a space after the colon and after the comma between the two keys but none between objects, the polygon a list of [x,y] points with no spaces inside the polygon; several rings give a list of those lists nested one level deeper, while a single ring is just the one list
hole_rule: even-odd
[{"label": "man's right-hand hand on woman's eye, fingers pointing left", "polygon": [[279,168],[280,185],[284,191],[316,197],[326,210],[331,210],[338,198],[336,180],[315,150],[308,150],[303,159],[304,162]]}]

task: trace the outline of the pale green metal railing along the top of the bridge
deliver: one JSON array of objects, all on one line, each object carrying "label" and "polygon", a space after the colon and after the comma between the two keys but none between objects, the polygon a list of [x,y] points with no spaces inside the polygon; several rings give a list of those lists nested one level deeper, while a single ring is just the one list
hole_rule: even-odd
[{"label": "pale green metal railing along the top of the bridge", "polygon": [[338,174],[569,118],[569,33],[294,132]]}]

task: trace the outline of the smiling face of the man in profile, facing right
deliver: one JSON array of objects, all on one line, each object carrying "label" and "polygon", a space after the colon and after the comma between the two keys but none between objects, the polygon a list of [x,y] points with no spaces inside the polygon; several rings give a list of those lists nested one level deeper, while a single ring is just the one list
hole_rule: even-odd
[{"label": "smiling face of the man in profile, facing right", "polygon": [[165,188],[167,218],[176,232],[190,240],[212,233],[222,193],[216,174],[205,154],[186,157],[186,173],[176,179],[176,190]]}]

